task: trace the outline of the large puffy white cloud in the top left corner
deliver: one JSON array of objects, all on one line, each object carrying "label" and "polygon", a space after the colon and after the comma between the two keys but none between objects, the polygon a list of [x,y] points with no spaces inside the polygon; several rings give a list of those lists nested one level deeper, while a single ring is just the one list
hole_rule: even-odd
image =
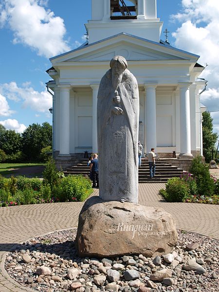
[{"label": "large puffy white cloud in the top left corner", "polygon": [[14,32],[13,43],[22,43],[38,55],[52,57],[70,50],[64,40],[66,28],[60,17],[45,9],[47,0],[2,0],[0,26]]}]

